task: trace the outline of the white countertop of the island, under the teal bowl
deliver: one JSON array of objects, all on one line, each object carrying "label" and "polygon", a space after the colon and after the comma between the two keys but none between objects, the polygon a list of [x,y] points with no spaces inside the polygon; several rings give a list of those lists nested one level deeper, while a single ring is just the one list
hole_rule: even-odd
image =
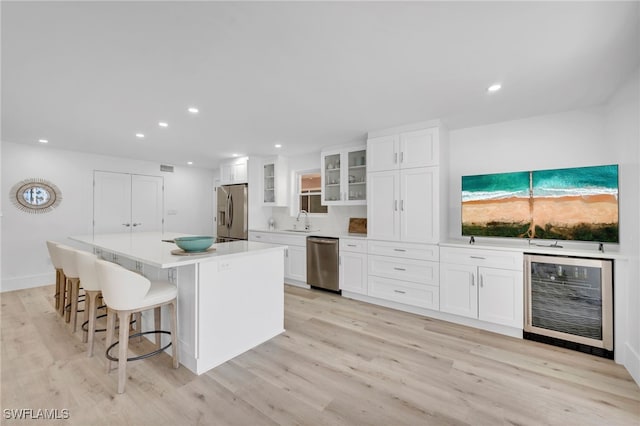
[{"label": "white countertop of the island, under the teal bowl", "polygon": [[179,232],[134,232],[122,234],[80,235],[70,239],[92,247],[115,253],[158,268],[173,268],[214,260],[220,256],[242,256],[262,250],[282,250],[282,246],[254,241],[217,243],[215,251],[189,256],[171,254],[178,249],[174,243],[163,242],[176,237],[188,236]]}]

